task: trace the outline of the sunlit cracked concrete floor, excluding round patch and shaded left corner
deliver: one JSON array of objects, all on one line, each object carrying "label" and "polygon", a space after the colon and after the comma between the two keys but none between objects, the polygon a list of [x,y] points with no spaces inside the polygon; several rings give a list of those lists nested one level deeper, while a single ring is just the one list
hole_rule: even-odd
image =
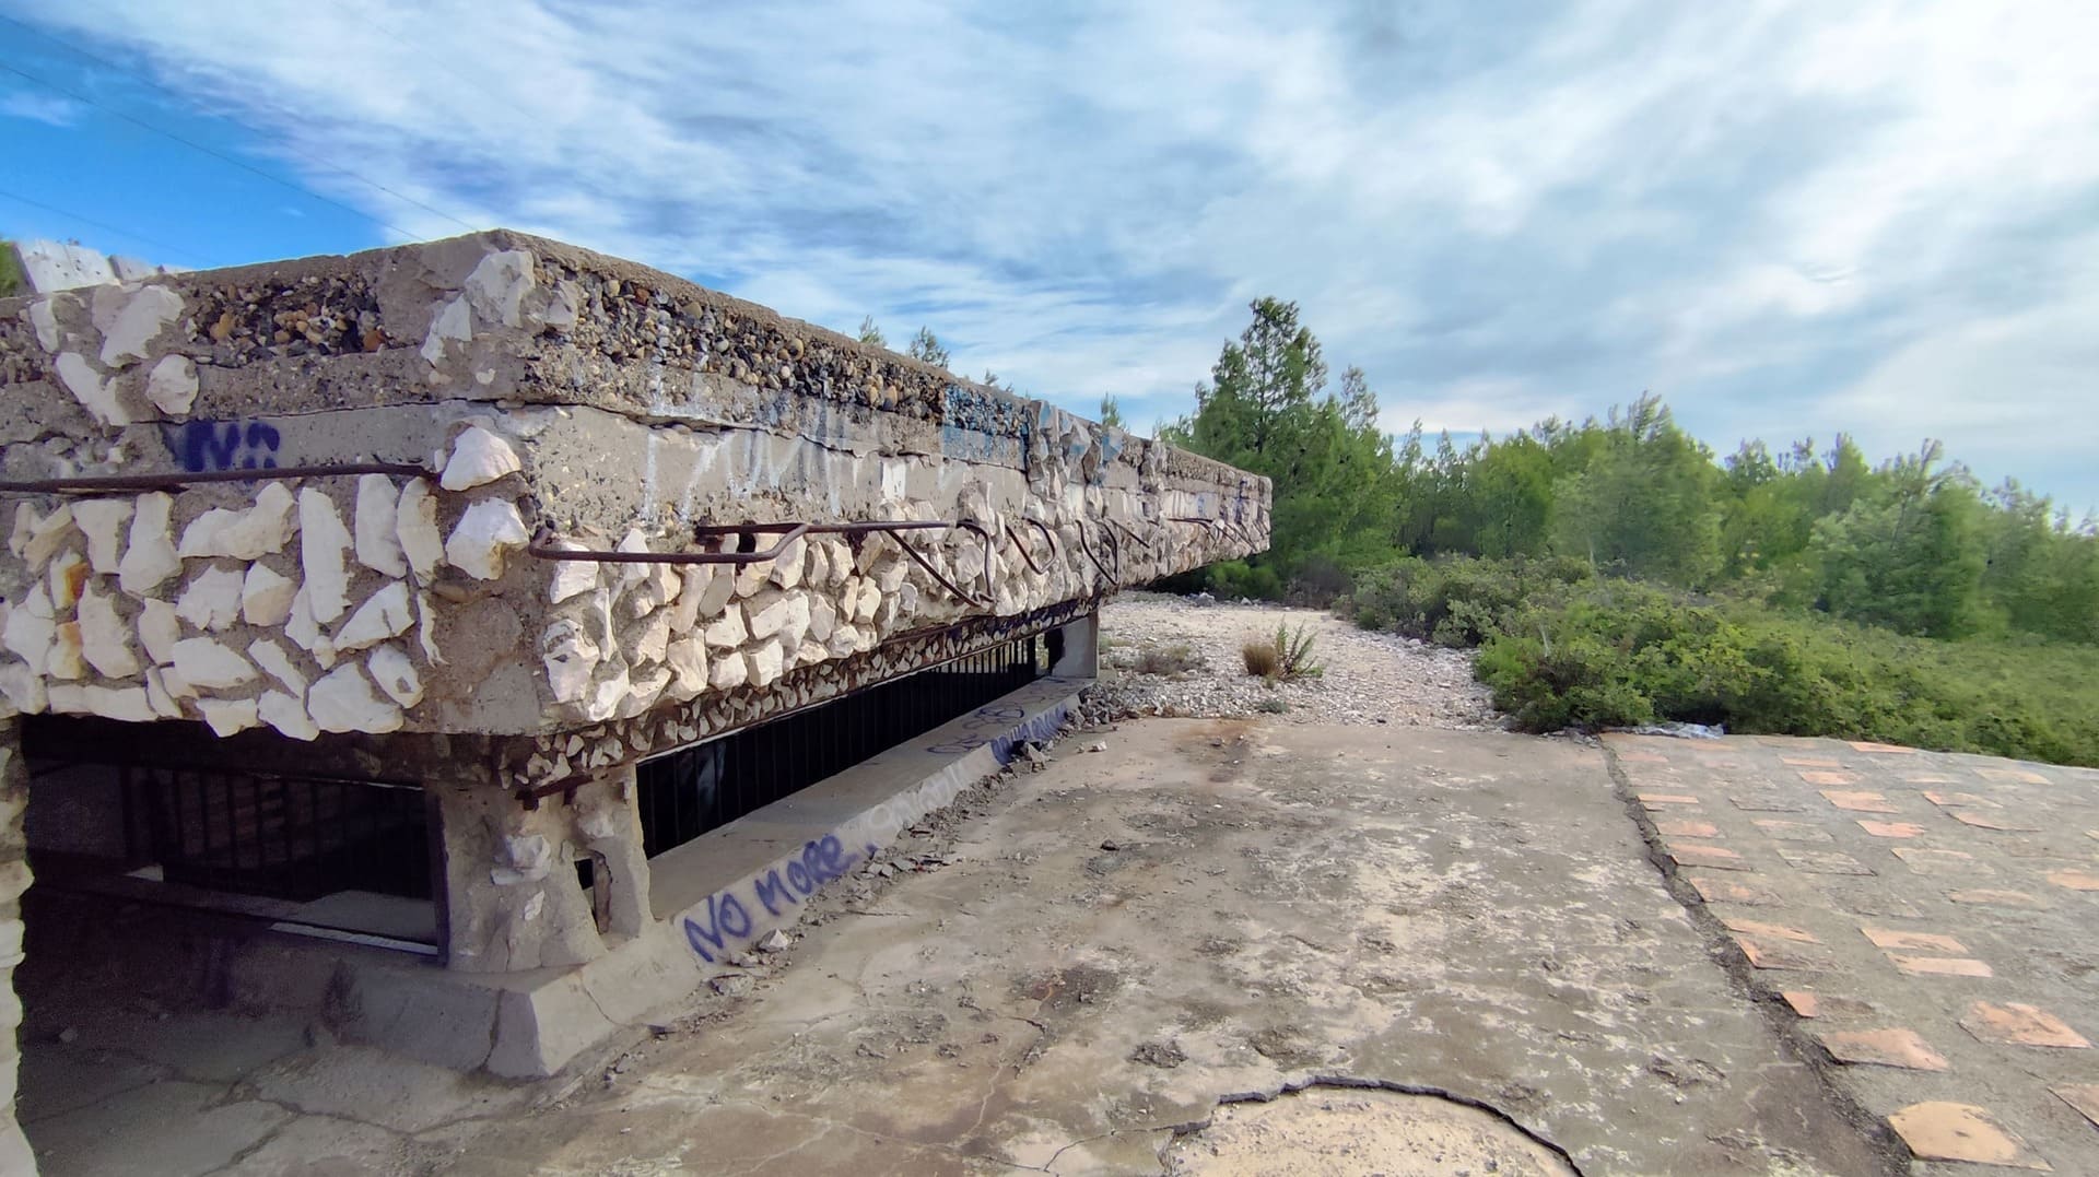
[{"label": "sunlit cracked concrete floor, excluding round patch and shaded left corner", "polygon": [[1897,1171],[1709,955],[1597,751],[1104,741],[447,1171],[1159,1173],[1220,1099],[1316,1076],[1478,1101],[1583,1173]]}]

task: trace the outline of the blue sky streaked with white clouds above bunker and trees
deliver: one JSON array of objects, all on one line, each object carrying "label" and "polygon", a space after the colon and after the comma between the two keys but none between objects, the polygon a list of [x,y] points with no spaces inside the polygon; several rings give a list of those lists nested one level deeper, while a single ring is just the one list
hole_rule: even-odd
[{"label": "blue sky streaked with white clouds above bunker and trees", "polygon": [[1648,390],[2082,514],[2095,44],[2091,0],[0,0],[0,233],[502,224],[1140,428],[1278,296],[1390,430]]}]

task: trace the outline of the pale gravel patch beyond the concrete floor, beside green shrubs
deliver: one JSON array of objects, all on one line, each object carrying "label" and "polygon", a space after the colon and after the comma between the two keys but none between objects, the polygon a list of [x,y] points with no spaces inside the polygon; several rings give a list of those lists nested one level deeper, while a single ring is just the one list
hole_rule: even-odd
[{"label": "pale gravel patch beyond the concrete floor, beside green shrubs", "polygon": [[[1270,686],[1245,671],[1238,648],[1272,638],[1276,625],[1310,625],[1318,678]],[[1098,709],[1127,715],[1249,715],[1287,709],[1287,724],[1411,724],[1419,728],[1501,728],[1501,713],[1471,678],[1469,650],[1444,650],[1369,634],[1316,608],[1276,604],[1199,604],[1190,598],[1125,592],[1100,613]],[[1190,663],[1180,673],[1140,673],[1146,652]],[[1094,711],[1096,707],[1089,707]]]}]

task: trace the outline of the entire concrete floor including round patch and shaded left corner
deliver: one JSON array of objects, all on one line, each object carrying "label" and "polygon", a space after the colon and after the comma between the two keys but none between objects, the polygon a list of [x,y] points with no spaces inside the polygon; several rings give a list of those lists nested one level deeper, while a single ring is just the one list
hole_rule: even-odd
[{"label": "entire concrete floor including round patch and shaded left corner", "polygon": [[31,1001],[27,1131],[46,1177],[1908,1171],[1627,789],[1568,741],[1125,724],[966,793],[567,1087],[267,1020],[57,1043],[84,1015]]}]

